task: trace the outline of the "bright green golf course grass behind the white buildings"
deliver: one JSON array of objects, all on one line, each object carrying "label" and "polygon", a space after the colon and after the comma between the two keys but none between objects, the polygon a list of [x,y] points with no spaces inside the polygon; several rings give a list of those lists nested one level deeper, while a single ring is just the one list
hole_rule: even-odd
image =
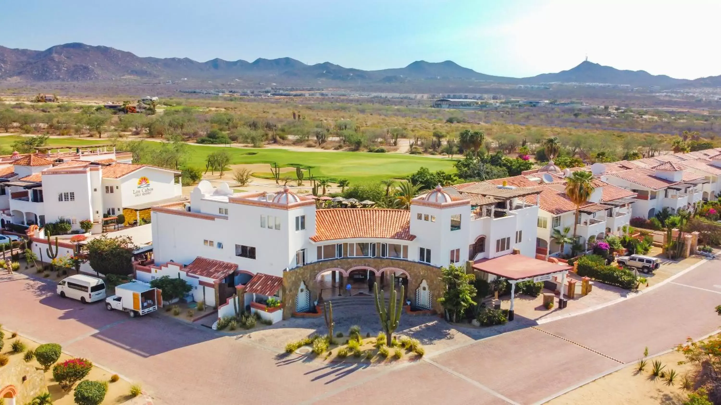
[{"label": "bright green golf course grass behind the white buildings", "polygon": [[[0,147],[9,147],[19,140],[18,136],[0,137]],[[79,139],[73,137],[50,138],[48,146],[102,145],[112,143],[112,139]],[[157,142],[148,142],[151,147],[159,147]],[[333,180],[347,178],[353,183],[362,181],[381,181],[386,178],[402,178],[409,176],[425,166],[431,171],[445,170],[454,173],[454,160],[427,158],[424,156],[402,155],[398,153],[367,153],[367,152],[299,152],[283,149],[263,149],[245,147],[215,147],[188,145],[187,165],[205,168],[205,158],[213,152],[225,150],[231,155],[230,164],[242,163],[278,163],[281,167],[301,165],[311,168],[313,176]],[[265,170],[263,170],[265,172]],[[288,173],[288,175],[294,173]],[[267,169],[270,177],[270,167]],[[285,175],[283,175],[285,176]],[[307,176],[307,173],[306,173]]]}]

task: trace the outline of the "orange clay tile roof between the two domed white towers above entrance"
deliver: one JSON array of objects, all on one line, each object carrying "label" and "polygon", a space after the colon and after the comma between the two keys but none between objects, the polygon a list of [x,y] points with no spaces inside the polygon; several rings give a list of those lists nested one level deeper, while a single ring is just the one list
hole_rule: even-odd
[{"label": "orange clay tile roof between the two domed white towers above entrance", "polygon": [[374,237],[414,240],[410,235],[410,211],[405,209],[332,208],[316,211],[313,242]]}]

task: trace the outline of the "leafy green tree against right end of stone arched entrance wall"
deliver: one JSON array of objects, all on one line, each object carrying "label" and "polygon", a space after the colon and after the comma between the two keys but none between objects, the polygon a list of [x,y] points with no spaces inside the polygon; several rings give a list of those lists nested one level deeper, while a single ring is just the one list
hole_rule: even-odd
[{"label": "leafy green tree against right end of stone arched entrance wall", "polygon": [[473,301],[477,290],[473,285],[476,276],[466,274],[466,268],[461,265],[450,264],[441,268],[441,281],[446,286],[443,296],[438,302],[446,311],[446,320],[459,322],[466,309],[475,305]]}]

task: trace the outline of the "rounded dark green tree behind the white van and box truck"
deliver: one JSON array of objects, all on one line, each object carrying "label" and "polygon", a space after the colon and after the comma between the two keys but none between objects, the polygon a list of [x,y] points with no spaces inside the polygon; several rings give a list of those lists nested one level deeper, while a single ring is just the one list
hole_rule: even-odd
[{"label": "rounded dark green tree behind the white van and box truck", "polygon": [[138,247],[129,236],[93,238],[85,245],[87,257],[96,273],[128,276],[133,273],[133,251]]}]

